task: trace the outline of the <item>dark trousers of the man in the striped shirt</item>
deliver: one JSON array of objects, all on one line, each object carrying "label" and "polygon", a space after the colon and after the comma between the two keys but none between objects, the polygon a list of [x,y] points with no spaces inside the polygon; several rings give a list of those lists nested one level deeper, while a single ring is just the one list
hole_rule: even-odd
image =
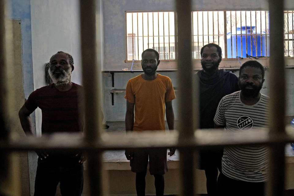
[{"label": "dark trousers of the man in the striped shirt", "polygon": [[234,180],[220,173],[217,179],[219,196],[263,196],[265,183]]}]

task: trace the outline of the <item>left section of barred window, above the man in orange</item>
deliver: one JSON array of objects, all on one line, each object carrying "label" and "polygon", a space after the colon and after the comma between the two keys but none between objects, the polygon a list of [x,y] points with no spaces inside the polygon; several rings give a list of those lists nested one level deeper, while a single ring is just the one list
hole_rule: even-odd
[{"label": "left section of barred window, above the man in orange", "polygon": [[126,35],[127,61],[141,60],[147,48],[157,48],[160,60],[175,59],[174,12],[126,12]]}]

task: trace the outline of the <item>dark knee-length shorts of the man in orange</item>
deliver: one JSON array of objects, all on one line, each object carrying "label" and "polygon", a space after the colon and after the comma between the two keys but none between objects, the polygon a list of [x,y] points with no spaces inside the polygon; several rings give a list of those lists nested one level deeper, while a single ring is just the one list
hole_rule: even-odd
[{"label": "dark knee-length shorts of the man in orange", "polygon": [[164,175],[168,171],[166,149],[134,149],[133,159],[130,160],[131,171],[146,171],[148,157],[150,175]]}]

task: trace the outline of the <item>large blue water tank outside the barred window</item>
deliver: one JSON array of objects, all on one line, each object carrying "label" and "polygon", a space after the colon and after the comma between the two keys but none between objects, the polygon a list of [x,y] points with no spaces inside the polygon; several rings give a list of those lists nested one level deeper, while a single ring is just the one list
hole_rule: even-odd
[{"label": "large blue water tank outside the barred window", "polygon": [[[247,35],[246,35],[246,32],[247,32]],[[250,36],[250,34],[252,35]],[[236,36],[237,36],[237,55],[236,55]],[[241,37],[242,37],[242,47],[241,47]],[[262,46],[260,44],[260,37],[262,40]],[[242,27],[237,27],[237,33],[235,32],[227,33],[228,58],[236,58],[236,56],[246,58],[246,38],[247,38],[247,54],[248,55],[269,56],[269,35],[265,35],[265,32],[256,33],[255,26],[251,26],[251,28],[250,26],[242,26]],[[231,49],[231,39],[232,39],[232,49]],[[251,53],[250,42],[252,44],[252,53]],[[267,53],[266,53],[266,44],[268,46]],[[242,48],[242,54],[241,54],[241,48]],[[262,54],[261,54],[261,48],[262,48]],[[256,55],[256,50],[257,50],[257,55]]]}]

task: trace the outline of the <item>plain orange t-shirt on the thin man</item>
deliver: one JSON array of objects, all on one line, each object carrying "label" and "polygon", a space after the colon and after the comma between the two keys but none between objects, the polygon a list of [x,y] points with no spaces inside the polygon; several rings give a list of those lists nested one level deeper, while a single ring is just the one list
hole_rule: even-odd
[{"label": "plain orange t-shirt on the thin man", "polygon": [[171,79],[157,74],[154,80],[138,75],[126,85],[126,100],[135,104],[133,130],[165,130],[165,102],[175,99]]}]

